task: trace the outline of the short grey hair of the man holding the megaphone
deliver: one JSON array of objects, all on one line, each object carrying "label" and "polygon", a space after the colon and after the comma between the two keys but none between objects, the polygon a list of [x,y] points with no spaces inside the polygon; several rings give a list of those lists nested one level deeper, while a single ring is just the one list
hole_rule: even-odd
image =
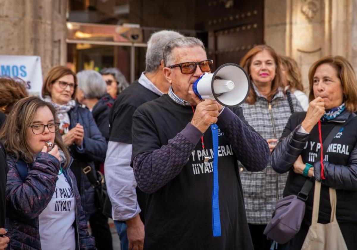
[{"label": "short grey hair of the man holding the megaphone", "polygon": [[203,50],[205,50],[205,46],[203,45],[202,41],[198,38],[194,37],[183,37],[183,38],[176,38],[170,43],[167,43],[164,49],[164,65],[170,66],[174,63],[175,58],[174,55],[172,54],[172,51],[175,48],[191,48],[191,47],[196,47],[199,46]]}]

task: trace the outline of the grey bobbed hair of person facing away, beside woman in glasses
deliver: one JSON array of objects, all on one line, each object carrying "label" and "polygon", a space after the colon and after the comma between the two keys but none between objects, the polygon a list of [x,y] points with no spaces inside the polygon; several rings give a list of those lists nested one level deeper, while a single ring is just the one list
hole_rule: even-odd
[{"label": "grey bobbed hair of person facing away, beside woman in glasses", "polygon": [[94,70],[82,70],[77,73],[78,87],[84,92],[86,99],[100,99],[107,93],[103,77]]}]

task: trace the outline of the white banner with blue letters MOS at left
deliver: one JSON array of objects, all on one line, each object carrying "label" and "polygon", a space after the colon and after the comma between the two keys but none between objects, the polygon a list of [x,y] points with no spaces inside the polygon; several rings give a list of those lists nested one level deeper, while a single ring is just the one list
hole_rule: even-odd
[{"label": "white banner with blue letters MOS at left", "polygon": [[0,55],[0,76],[19,77],[29,95],[41,96],[42,68],[39,56]]}]

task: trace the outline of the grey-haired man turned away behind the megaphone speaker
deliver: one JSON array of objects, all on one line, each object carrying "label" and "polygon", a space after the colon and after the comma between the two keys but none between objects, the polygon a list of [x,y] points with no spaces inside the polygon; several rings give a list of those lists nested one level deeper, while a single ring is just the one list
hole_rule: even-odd
[{"label": "grey-haired man turned away behind the megaphone speaker", "polygon": [[[162,53],[172,39],[183,37],[163,30],[151,35],[147,43],[146,70],[116,99],[110,114],[110,138],[105,159],[105,178],[112,203],[112,218],[119,234],[121,249],[142,249],[144,244],[145,194],[136,190],[131,160],[132,115],[141,104],[169,90]],[[140,216],[139,216],[140,214]]]}]

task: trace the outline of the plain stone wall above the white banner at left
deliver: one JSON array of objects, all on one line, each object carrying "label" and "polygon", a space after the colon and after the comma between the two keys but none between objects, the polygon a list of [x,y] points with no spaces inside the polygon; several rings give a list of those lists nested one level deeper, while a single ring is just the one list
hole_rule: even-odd
[{"label": "plain stone wall above the white banner at left", "polygon": [[44,76],[66,62],[66,0],[0,0],[0,54],[38,55]]}]

